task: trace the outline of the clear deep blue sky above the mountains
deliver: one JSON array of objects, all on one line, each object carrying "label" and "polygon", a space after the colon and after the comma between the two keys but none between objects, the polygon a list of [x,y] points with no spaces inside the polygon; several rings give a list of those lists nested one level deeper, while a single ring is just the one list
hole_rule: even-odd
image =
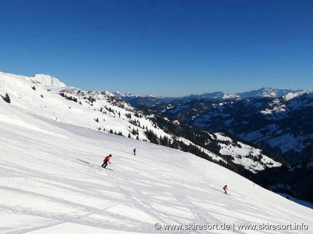
[{"label": "clear deep blue sky above the mountains", "polygon": [[313,1],[0,0],[0,70],[85,90],[313,90]]}]

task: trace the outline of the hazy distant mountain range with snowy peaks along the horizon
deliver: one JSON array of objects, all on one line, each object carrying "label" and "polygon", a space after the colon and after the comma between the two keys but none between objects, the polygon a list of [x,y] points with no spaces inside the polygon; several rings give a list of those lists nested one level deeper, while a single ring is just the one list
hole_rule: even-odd
[{"label": "hazy distant mountain range with snowy peaks along the horizon", "polygon": [[279,98],[287,94],[297,94],[297,93],[312,93],[308,90],[291,90],[291,89],[273,89],[273,88],[261,88],[259,90],[252,90],[244,93],[237,94],[225,94],[224,92],[214,92],[214,93],[204,93],[201,95],[189,95],[179,98],[171,97],[157,97],[157,96],[139,96],[132,93],[121,94],[116,91],[114,94],[127,100],[132,105],[138,107],[140,105],[145,105],[148,107],[156,106],[161,103],[179,102],[193,99],[207,99],[207,100],[225,100],[225,99],[237,99],[237,98]]}]

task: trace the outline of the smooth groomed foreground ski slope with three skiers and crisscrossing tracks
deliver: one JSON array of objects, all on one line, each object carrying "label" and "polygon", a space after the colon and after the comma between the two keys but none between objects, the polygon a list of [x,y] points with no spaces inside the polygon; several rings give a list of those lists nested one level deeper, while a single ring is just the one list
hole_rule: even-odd
[{"label": "smooth groomed foreground ski slope with three skiers and crisscrossing tracks", "polygon": [[[189,153],[2,100],[0,133],[1,234],[312,233],[312,209]],[[100,167],[109,154],[113,171]],[[169,224],[189,229],[165,230]],[[229,230],[190,230],[192,224]],[[239,230],[242,224],[302,230]]]}]

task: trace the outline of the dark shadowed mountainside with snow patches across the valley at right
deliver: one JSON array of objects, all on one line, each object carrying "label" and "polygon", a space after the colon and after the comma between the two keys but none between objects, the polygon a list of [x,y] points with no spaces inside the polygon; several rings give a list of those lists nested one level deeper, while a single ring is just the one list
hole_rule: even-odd
[{"label": "dark shadowed mountainside with snow patches across the valley at right", "polygon": [[193,99],[154,109],[207,131],[228,131],[295,163],[312,156],[312,107],[313,93],[303,90],[280,98]]}]

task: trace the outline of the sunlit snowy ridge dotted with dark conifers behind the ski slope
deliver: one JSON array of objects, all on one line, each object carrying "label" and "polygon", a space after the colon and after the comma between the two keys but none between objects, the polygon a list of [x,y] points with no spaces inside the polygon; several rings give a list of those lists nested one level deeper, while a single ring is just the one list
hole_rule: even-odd
[{"label": "sunlit snowy ridge dotted with dark conifers behind the ski slope", "polygon": [[215,134],[208,135],[205,144],[219,142],[213,144],[217,147],[217,155],[184,137],[164,132],[150,117],[144,116],[111,92],[83,91],[75,87],[67,87],[51,76],[36,75],[28,78],[1,73],[0,94],[4,97],[6,93],[11,98],[10,105],[38,117],[144,141],[151,141],[153,136],[147,136],[147,131],[151,131],[151,134],[157,137],[158,143],[163,144],[165,140],[163,145],[169,145],[174,144],[174,140],[178,140],[180,143],[177,148],[182,148],[182,145],[196,147],[211,160],[243,165],[254,173],[266,167],[281,165],[257,148],[246,144],[240,145],[231,139],[223,142]]}]

